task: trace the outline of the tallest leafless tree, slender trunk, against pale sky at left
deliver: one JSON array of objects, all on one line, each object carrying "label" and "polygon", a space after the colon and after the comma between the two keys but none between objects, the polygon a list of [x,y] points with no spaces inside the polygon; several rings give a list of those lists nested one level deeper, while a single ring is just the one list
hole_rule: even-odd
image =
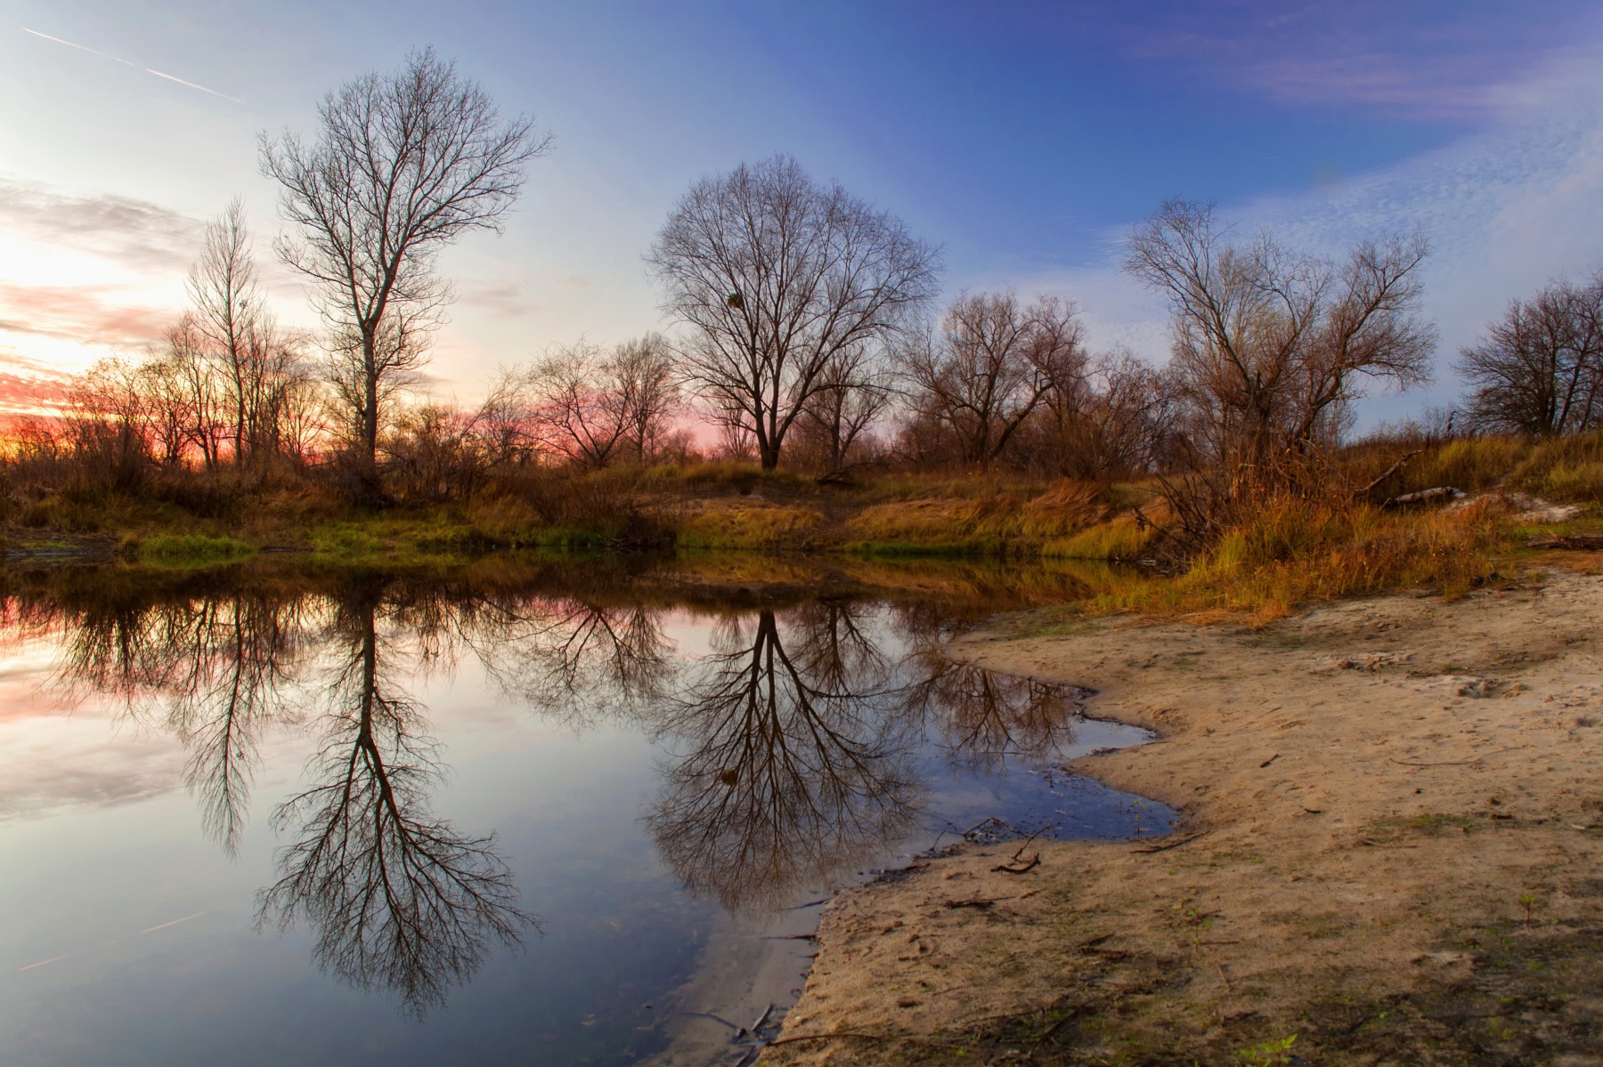
[{"label": "tallest leafless tree, slender trunk, against pale sky at left", "polygon": [[311,143],[261,135],[261,171],[300,231],[277,252],[314,284],[317,309],[345,341],[341,391],[372,493],[388,381],[417,365],[450,300],[439,250],[470,231],[500,231],[524,163],[550,138],[527,117],[502,120],[476,82],[428,48],[393,74],[346,82],[317,117]]}]

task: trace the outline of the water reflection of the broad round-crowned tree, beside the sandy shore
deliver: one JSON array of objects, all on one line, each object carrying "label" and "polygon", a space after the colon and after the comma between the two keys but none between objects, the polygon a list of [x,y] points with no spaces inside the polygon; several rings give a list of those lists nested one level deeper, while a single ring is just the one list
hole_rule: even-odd
[{"label": "water reflection of the broad round-crowned tree, beside the sandy shore", "polygon": [[689,889],[774,904],[907,833],[909,723],[886,713],[888,663],[851,604],[725,617],[712,647],[659,724],[689,751],[646,819]]}]

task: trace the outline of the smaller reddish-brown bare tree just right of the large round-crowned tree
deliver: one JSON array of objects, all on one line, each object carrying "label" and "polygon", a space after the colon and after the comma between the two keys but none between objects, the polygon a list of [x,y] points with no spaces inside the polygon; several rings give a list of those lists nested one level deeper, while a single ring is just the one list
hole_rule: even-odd
[{"label": "smaller reddish-brown bare tree just right of the large round-crowned tree", "polygon": [[987,468],[1029,415],[1085,375],[1074,304],[1013,293],[960,293],[939,330],[899,352],[914,410],[952,437],[957,458]]}]

